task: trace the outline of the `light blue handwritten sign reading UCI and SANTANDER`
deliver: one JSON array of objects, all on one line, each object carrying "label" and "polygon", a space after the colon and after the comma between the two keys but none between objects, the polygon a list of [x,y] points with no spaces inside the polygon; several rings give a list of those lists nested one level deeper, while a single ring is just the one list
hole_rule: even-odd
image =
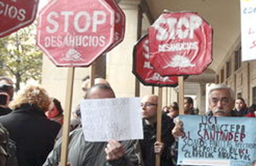
[{"label": "light blue handwritten sign reading UCI and SANTANDER", "polygon": [[255,118],[180,116],[180,119],[186,133],[179,140],[180,165],[240,166],[253,162]]}]

